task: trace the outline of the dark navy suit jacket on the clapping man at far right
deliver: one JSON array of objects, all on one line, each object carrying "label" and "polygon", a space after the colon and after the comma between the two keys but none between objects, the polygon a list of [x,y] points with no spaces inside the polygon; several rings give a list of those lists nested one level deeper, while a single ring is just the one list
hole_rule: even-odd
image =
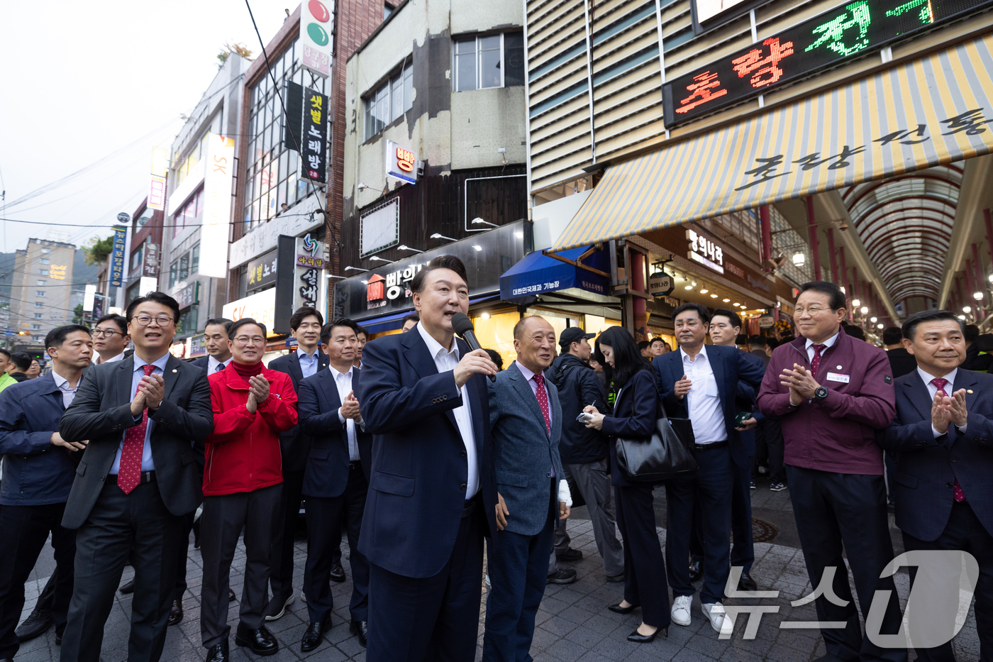
[{"label": "dark navy suit jacket on the clapping man at far right", "polygon": [[[957,478],[976,517],[993,535],[993,375],[958,369],[952,393],[965,389],[965,432],[949,425],[934,438],[931,399],[914,371],[894,380],[897,417],[876,433],[886,450],[899,453],[893,476],[897,526],[922,541],[933,541],[951,515]],[[971,393],[969,393],[971,391]]]}]

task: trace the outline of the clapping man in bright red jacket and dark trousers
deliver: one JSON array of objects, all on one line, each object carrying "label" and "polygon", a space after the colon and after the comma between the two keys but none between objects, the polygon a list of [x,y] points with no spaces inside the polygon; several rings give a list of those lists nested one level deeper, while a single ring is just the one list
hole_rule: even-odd
[{"label": "clapping man in bright red jacket and dark trousers", "polygon": [[228,576],[242,527],[247,558],[234,643],[256,655],[279,650],[262,615],[283,482],[279,434],[297,424],[297,395],[288,375],[262,367],[265,337],[265,325],[250,317],[234,322],[227,341],[233,360],[210,376],[213,434],[207,437],[200,536],[200,629],[208,662],[228,660]]}]

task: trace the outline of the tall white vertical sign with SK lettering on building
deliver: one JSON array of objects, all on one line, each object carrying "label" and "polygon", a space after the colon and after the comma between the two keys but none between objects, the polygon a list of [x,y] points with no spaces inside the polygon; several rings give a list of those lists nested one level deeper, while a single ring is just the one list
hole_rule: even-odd
[{"label": "tall white vertical sign with SK lettering on building", "polygon": [[234,170],[234,140],[210,134],[204,175],[204,225],[200,230],[200,273],[212,278],[227,277],[227,236],[231,223],[231,178]]}]

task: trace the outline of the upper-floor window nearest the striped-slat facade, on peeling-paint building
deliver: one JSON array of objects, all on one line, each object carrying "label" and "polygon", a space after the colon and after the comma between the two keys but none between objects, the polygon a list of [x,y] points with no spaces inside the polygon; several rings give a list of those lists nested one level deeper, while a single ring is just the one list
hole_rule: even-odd
[{"label": "upper-floor window nearest the striped-slat facade, on peeling-paint building", "polygon": [[455,91],[524,84],[524,38],[520,32],[455,40]]}]

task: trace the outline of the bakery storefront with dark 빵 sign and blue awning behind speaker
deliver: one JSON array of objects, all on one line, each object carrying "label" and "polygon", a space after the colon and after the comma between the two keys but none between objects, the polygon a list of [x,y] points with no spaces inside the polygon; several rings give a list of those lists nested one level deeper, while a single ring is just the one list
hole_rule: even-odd
[{"label": "bakery storefront with dark \ube75 sign and blue awning behind speaker", "polygon": [[[456,255],[469,277],[469,316],[483,347],[496,350],[506,367],[516,358],[513,326],[521,315],[541,315],[556,333],[583,326],[599,332],[621,320],[621,300],[609,294],[610,260],[594,249],[576,265],[580,247],[563,261],[533,248],[528,221],[515,221],[469,239],[369,269],[335,284],[335,318],[362,325],[370,339],[399,333],[403,318],[414,312],[410,281],[433,257]],[[571,257],[569,256],[571,255]],[[573,263],[570,263],[573,262]]]}]

